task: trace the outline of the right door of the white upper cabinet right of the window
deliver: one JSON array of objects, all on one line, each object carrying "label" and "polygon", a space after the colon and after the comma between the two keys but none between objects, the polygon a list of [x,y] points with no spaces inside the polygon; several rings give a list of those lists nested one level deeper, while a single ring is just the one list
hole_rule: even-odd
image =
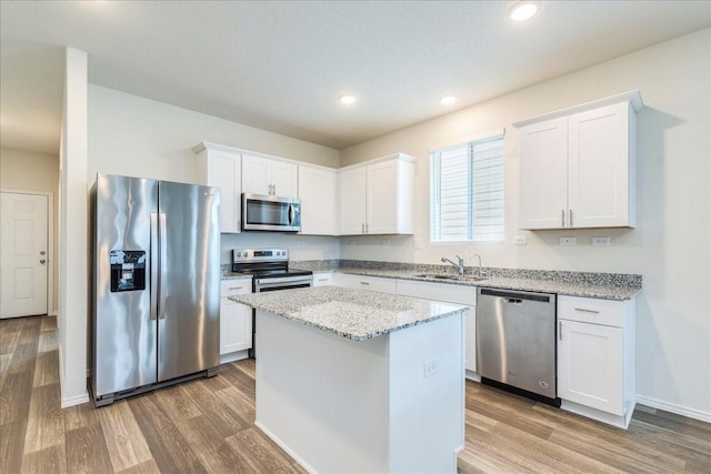
[{"label": "right door of the white upper cabinet right of the window", "polygon": [[568,205],[572,228],[630,225],[630,105],[569,118]]}]

